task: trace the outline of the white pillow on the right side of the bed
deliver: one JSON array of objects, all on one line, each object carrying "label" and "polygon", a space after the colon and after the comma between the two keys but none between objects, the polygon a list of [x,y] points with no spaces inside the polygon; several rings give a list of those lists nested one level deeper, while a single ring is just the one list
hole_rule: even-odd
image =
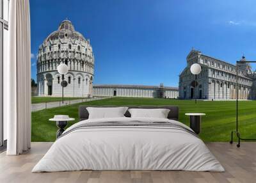
[{"label": "white pillow on the right side of the bed", "polygon": [[170,109],[128,109],[132,118],[167,118]]}]

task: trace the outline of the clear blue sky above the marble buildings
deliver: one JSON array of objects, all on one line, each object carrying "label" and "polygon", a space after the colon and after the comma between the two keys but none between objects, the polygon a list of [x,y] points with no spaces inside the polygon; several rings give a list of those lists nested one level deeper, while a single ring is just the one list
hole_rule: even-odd
[{"label": "clear blue sky above the marble buildings", "polygon": [[95,84],[178,86],[194,47],[235,63],[256,59],[256,1],[31,0],[31,73],[44,39],[66,18],[90,42]]}]

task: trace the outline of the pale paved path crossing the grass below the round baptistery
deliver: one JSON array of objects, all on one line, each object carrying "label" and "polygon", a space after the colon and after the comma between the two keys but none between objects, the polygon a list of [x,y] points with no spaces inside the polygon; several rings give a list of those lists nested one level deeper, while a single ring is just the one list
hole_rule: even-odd
[{"label": "pale paved path crossing the grass below the round baptistery", "polygon": [[53,107],[63,107],[71,104],[77,104],[81,102],[90,102],[93,100],[102,100],[102,99],[108,99],[111,97],[97,97],[97,98],[90,98],[90,99],[77,99],[77,100],[64,100],[63,104],[62,101],[58,102],[44,102],[44,103],[38,103],[38,104],[31,104],[31,111],[40,111],[43,109],[49,109]]}]

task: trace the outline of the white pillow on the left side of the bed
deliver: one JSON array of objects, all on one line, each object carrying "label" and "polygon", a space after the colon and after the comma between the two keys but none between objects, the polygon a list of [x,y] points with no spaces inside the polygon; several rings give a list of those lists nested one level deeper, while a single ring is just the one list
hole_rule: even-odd
[{"label": "white pillow on the left side of the bed", "polygon": [[128,107],[86,107],[89,119],[124,117]]}]

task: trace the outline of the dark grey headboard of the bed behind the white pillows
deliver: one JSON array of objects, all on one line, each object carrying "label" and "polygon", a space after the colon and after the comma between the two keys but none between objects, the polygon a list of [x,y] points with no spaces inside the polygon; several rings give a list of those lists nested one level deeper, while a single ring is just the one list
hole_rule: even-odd
[{"label": "dark grey headboard of the bed behind the white pillows", "polygon": [[[122,106],[79,106],[79,121],[87,120],[89,117],[89,113],[86,107],[122,107]],[[143,109],[170,109],[168,113],[169,120],[179,121],[179,107],[178,106],[126,106],[129,108],[143,108]],[[131,117],[131,114],[127,110],[124,114],[126,117]]]}]

